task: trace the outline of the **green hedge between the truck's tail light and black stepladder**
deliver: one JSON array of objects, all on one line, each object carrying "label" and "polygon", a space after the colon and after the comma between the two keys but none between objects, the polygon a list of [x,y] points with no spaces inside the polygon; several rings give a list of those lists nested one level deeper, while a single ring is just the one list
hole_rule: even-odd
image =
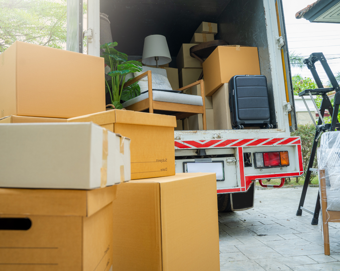
[{"label": "green hedge between the truck's tail light and black stepladder", "polygon": [[[308,163],[309,163],[309,156],[312,150],[314,136],[315,136],[315,126],[314,124],[298,124],[297,130],[290,134],[292,137],[301,137],[301,152],[302,152],[302,160],[303,160],[303,170],[306,174]],[[318,147],[320,147],[320,140],[318,143]],[[313,168],[318,167],[317,157],[315,156],[313,162]],[[312,172],[313,174],[313,172]],[[312,179],[313,176],[311,176]]]}]

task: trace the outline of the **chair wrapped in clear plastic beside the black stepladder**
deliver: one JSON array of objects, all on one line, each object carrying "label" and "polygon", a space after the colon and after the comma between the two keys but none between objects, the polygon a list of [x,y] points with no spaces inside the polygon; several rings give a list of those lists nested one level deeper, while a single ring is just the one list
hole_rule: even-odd
[{"label": "chair wrapped in clear plastic beside the black stepladder", "polygon": [[340,131],[326,132],[318,148],[319,193],[325,255],[329,255],[329,222],[340,222]]}]

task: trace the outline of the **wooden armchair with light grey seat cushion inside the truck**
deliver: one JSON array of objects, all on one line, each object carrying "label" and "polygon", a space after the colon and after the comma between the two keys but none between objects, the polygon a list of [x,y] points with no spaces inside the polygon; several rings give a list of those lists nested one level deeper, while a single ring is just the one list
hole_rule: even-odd
[{"label": "wooden armchair with light grey seat cushion inside the truck", "polygon": [[[202,96],[202,103],[203,105],[195,105],[195,104],[187,104],[185,101],[192,100],[194,98],[197,100],[197,96],[194,95],[187,95],[187,94],[179,94],[179,93],[171,93],[171,92],[163,92],[163,91],[157,91],[157,94],[160,93],[162,96],[168,96],[169,101],[158,101],[155,100],[155,97],[153,97],[152,93],[152,79],[151,79],[151,70],[146,71],[145,73],[135,77],[134,79],[130,80],[129,82],[126,82],[124,84],[124,87],[129,86],[135,82],[138,82],[139,80],[148,77],[148,95],[149,97],[145,94],[141,94],[140,96],[134,98],[136,99],[136,102],[128,105],[125,107],[126,110],[133,110],[133,111],[145,111],[149,109],[149,113],[154,113],[154,110],[162,110],[162,111],[172,111],[173,116],[176,116],[176,119],[184,119],[189,116],[193,116],[196,114],[202,114],[203,116],[203,129],[207,129],[207,124],[206,124],[206,117],[205,117],[205,92],[204,92],[204,83],[203,80],[199,80],[197,82],[194,82],[190,85],[187,85],[185,87],[181,87],[177,91],[184,91],[186,89],[189,89],[192,86],[195,85],[200,85],[201,86],[201,96]],[[141,97],[142,95],[145,95]],[[174,96],[176,95],[176,96]],[[185,95],[185,96],[178,96],[178,95]],[[189,96],[194,96],[194,97],[189,97]],[[183,100],[183,103],[179,102],[171,102],[173,98],[179,98],[179,100]],[[138,99],[137,99],[138,98]],[[141,99],[141,100],[140,100]],[[133,99],[132,99],[133,100]],[[130,101],[132,101],[130,100]],[[178,101],[178,99],[176,99]],[[191,102],[191,101],[189,101]],[[191,102],[195,103],[195,102]],[[197,103],[197,102],[196,102]]]}]

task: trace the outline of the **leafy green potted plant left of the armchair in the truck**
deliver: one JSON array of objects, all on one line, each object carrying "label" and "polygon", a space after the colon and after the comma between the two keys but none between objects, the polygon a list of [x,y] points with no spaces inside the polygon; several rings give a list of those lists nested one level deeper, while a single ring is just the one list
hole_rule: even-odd
[{"label": "leafy green potted plant left of the armchair in the truck", "polygon": [[106,80],[105,78],[105,93],[109,92],[114,108],[122,109],[120,100],[127,101],[140,95],[140,87],[137,82],[125,88],[123,86],[127,74],[142,71],[142,63],[133,60],[127,61],[128,55],[114,49],[117,45],[117,42],[105,43],[100,48],[105,49],[101,57],[111,69],[107,73],[111,79]]}]

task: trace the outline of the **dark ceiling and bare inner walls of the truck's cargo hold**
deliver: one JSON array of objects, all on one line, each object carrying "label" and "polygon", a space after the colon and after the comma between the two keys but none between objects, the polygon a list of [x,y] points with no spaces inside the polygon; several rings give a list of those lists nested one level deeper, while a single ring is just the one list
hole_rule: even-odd
[{"label": "dark ceiling and bare inner walls of the truck's cargo hold", "polygon": [[[268,84],[271,124],[276,127],[265,10],[262,0],[101,0],[100,12],[108,15],[118,51],[129,60],[142,58],[144,39],[164,35],[172,61],[183,43],[190,43],[202,21],[218,24],[216,39],[230,45],[258,48],[261,75]],[[204,79],[204,78],[203,78]]]}]

